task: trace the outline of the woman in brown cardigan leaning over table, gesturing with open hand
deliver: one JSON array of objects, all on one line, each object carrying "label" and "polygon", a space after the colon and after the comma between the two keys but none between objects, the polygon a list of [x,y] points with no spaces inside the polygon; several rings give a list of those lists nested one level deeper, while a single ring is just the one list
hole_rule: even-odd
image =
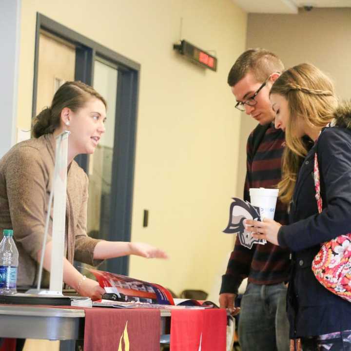
[{"label": "woman in brown cardigan leaning over table, gesturing with open hand", "polygon": [[[97,265],[99,260],[136,254],[166,258],[166,254],[145,243],[105,241],[86,234],[88,177],[74,157],[93,154],[105,132],[106,102],[92,87],[81,82],[66,82],[55,94],[51,107],[35,119],[33,139],[15,145],[0,160],[0,229],[13,229],[19,250],[18,286],[34,286],[41,254],[51,190],[55,137],[69,130],[65,258],[63,281],[82,296],[101,298],[98,282],[85,278],[72,265],[78,260]],[[52,217],[49,233],[52,228]],[[48,236],[44,268],[50,269],[52,250]],[[48,282],[44,271],[43,283]]]}]

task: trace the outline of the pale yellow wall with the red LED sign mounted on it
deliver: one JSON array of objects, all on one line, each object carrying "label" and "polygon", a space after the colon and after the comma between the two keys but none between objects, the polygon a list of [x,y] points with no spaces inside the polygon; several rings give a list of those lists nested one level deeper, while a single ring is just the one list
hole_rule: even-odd
[{"label": "pale yellow wall with the red LED sign mounted on it", "polygon": [[[221,231],[236,195],[240,120],[226,78],[245,48],[246,14],[231,0],[22,0],[23,129],[30,127],[37,11],[141,64],[132,239],[170,259],[133,257],[130,274],[175,292],[209,291],[233,246]],[[214,50],[218,71],[181,58],[172,49],[178,39]]]}]

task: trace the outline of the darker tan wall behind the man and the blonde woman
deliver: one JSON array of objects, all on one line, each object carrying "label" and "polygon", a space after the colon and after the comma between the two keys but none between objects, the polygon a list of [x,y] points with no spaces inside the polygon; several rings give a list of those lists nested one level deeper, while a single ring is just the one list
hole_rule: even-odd
[{"label": "darker tan wall behind the man and the blonde woman", "polygon": [[[289,68],[309,62],[334,81],[340,98],[351,98],[351,8],[300,9],[298,15],[250,14],[247,48],[271,50]],[[256,122],[243,116],[239,164],[245,161],[246,139]],[[245,172],[240,167],[237,192],[243,188]]]}]

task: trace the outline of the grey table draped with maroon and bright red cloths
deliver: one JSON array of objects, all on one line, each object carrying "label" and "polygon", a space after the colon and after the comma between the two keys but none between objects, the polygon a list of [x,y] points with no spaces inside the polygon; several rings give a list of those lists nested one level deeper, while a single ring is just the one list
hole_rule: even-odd
[{"label": "grey table draped with maroon and bright red cloths", "polygon": [[171,351],[225,351],[226,311],[72,308],[0,305],[0,337],[61,340],[60,350],[159,351],[171,331]]}]

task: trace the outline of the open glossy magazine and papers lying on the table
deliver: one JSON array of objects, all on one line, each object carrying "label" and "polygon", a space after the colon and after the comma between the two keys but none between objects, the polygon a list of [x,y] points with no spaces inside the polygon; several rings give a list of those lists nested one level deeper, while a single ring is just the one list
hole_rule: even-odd
[{"label": "open glossy magazine and papers lying on the table", "polygon": [[105,289],[102,300],[93,302],[93,306],[117,308],[214,308],[210,301],[192,299],[174,299],[171,292],[161,285],[145,282],[122,274],[98,271],[89,268]]}]

